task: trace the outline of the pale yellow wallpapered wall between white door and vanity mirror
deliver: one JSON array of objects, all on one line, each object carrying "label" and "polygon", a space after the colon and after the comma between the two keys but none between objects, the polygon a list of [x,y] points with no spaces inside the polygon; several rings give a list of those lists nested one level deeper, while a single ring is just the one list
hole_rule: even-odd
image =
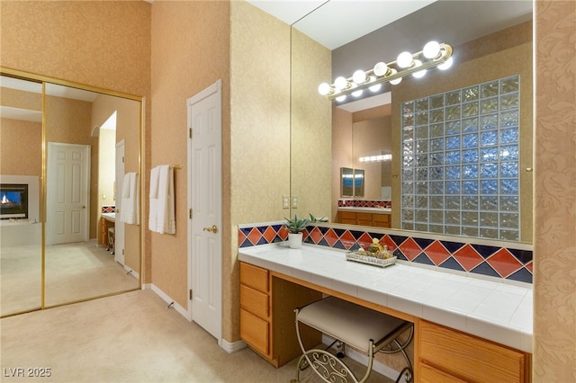
[{"label": "pale yellow wallpapered wall between white door and vanity mirror", "polygon": [[290,193],[290,26],[243,1],[231,3],[230,88],[234,235],[223,262],[224,337],[232,342],[239,339],[238,224],[283,219],[282,196]]}]

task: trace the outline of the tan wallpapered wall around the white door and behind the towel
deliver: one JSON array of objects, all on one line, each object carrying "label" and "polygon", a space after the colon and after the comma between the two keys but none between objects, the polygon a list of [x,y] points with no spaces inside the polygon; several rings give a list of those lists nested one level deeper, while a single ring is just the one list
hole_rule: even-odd
[{"label": "tan wallpapered wall around the white door and behind the towel", "polygon": [[[150,236],[151,282],[184,308],[188,307],[186,100],[218,79],[223,86],[225,137],[229,131],[229,3],[154,2],[151,156],[145,176],[157,165],[183,166],[175,170],[175,235],[151,233],[148,226],[145,232]],[[148,179],[145,183],[148,188]],[[227,193],[228,185],[223,184]],[[144,221],[148,223],[148,217]],[[222,236],[229,237],[228,227],[222,227]]]}]

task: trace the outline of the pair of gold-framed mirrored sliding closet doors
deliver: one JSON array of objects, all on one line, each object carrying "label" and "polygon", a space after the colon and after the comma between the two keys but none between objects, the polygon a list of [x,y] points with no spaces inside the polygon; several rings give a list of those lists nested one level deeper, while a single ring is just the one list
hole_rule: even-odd
[{"label": "pair of gold-framed mirrored sliding closet doors", "polygon": [[[27,98],[39,99],[40,105],[42,97],[44,100],[43,114],[40,113],[44,126],[37,123],[37,145],[27,150],[21,148],[13,155],[20,162],[26,156],[37,157],[39,165],[35,170],[7,169],[4,164],[8,161],[4,157],[9,152],[4,150],[0,162],[3,179],[4,174],[35,172],[39,180],[45,180],[35,194],[29,194],[29,200],[39,201],[37,222],[45,228],[43,246],[39,230],[40,253],[35,258],[39,265],[42,257],[44,259],[44,269],[40,271],[44,285],[40,276],[35,278],[31,283],[38,286],[39,293],[34,305],[20,305],[22,299],[14,298],[14,289],[4,289],[4,281],[9,281],[13,273],[11,268],[3,267],[2,316],[138,289],[139,225],[124,223],[121,211],[130,207],[129,202],[139,200],[139,185],[133,184],[134,188],[130,189],[122,183],[124,174],[139,174],[140,101],[136,97],[85,90],[68,83],[46,82],[43,95],[41,84],[35,91],[8,88],[4,93],[4,79],[8,88],[13,78],[3,76],[3,145],[9,132],[7,128],[16,120],[11,116],[9,123],[4,124],[8,120],[4,119],[4,104],[11,102],[4,94],[23,93]],[[46,148],[44,154],[42,146]],[[42,167],[46,172],[43,177]],[[134,204],[130,209],[138,212],[139,206]],[[2,219],[0,223],[4,238],[6,227],[22,230],[33,222],[11,218]],[[7,245],[11,245],[10,248]],[[14,262],[23,266],[25,271],[18,276],[21,283],[32,280],[34,274],[28,272],[31,266],[25,266],[28,261],[24,258],[23,244],[3,241],[3,266],[4,254],[13,254]],[[4,299],[4,293],[8,300]],[[7,301],[14,301],[14,305],[5,305]]]}]

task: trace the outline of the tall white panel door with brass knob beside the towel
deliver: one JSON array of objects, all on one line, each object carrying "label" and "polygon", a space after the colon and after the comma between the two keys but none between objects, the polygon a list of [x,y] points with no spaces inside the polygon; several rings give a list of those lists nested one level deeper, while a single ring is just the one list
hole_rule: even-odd
[{"label": "tall white panel door with brass knob beside the towel", "polygon": [[190,317],[221,343],[221,82],[188,100]]}]

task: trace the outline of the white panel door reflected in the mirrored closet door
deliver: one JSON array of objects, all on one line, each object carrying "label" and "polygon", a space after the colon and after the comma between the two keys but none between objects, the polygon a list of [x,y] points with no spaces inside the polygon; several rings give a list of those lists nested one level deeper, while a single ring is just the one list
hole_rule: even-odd
[{"label": "white panel door reflected in the mirrored closet door", "polygon": [[46,243],[88,240],[90,146],[48,143]]}]

